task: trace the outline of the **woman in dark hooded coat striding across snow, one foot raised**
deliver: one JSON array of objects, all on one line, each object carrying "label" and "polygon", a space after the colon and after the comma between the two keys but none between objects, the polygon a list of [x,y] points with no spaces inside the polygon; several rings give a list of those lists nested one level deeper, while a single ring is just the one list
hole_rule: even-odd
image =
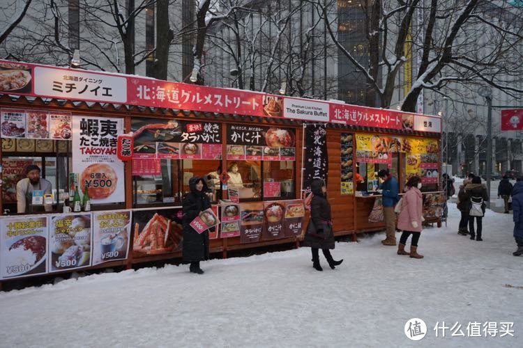
[{"label": "woman in dark hooded coat striding across snow, one foot raised", "polygon": [[329,249],[334,248],[334,233],[331,221],[331,205],[326,198],[327,189],[324,180],[314,179],[310,184],[312,201],[310,203],[310,221],[307,233],[303,239],[303,246],[310,246],[312,250],[312,267],[317,271],[323,271],[319,264],[319,249],[331,269],[341,264],[343,260],[335,261]]}]

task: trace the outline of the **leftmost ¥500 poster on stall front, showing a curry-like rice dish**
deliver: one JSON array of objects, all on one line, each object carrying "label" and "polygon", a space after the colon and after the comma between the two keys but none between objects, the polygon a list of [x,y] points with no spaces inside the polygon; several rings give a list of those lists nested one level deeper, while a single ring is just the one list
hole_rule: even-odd
[{"label": "leftmost \u00a5500 poster on stall front, showing a curry-like rice dish", "polygon": [[0,221],[0,278],[47,273],[47,217]]}]

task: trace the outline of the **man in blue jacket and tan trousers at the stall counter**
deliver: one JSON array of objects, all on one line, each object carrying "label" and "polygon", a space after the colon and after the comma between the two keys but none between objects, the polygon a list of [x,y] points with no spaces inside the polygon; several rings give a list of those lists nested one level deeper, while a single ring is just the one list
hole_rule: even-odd
[{"label": "man in blue jacket and tan trousers at the stall counter", "polygon": [[386,238],[381,241],[384,245],[396,245],[396,213],[394,212],[394,206],[398,198],[397,193],[400,191],[400,187],[397,184],[395,177],[388,173],[387,169],[381,169],[378,172],[378,177],[383,181],[379,187],[378,193],[381,193],[383,202],[383,214],[386,228]]}]

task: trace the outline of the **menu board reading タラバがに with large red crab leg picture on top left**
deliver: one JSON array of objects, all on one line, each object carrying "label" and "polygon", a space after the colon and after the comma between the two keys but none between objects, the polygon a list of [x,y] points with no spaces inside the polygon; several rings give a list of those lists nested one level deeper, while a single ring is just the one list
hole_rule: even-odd
[{"label": "menu board reading \u30bf\u30e9\u30d0\u304c\u306b with large red crab leg picture on top left", "polygon": [[222,159],[221,125],[172,119],[133,118],[133,159]]}]

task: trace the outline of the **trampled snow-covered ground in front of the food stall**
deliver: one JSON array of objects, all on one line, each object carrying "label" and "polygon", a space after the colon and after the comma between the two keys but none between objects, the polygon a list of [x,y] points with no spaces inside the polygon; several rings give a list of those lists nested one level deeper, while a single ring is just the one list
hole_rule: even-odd
[{"label": "trampled snow-covered ground in front of the food stall", "polygon": [[[168,265],[1,292],[0,347],[522,347],[512,215],[487,211],[476,242],[459,214],[450,203],[448,227],[423,230],[423,260],[377,233],[337,243],[344,262],[321,255],[323,272],[300,248],[203,262],[202,276]],[[412,318],[427,326],[417,342]]]}]

